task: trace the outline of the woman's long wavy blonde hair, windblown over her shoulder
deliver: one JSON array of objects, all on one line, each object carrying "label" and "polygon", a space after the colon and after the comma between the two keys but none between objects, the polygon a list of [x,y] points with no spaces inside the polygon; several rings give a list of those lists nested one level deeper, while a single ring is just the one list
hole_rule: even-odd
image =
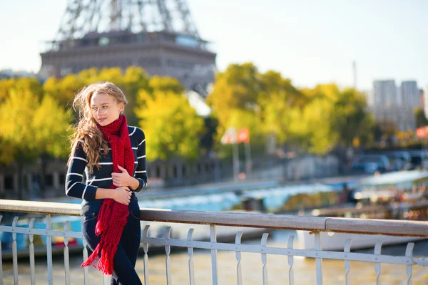
[{"label": "woman's long wavy blonde hair, windblown over her shoulder", "polygon": [[[101,168],[98,164],[98,160],[101,155],[105,157],[108,155],[108,142],[98,129],[96,121],[93,118],[91,110],[91,98],[95,94],[106,93],[112,95],[116,104],[128,103],[125,94],[118,86],[111,82],[97,82],[92,83],[89,86],[84,87],[80,92],[76,94],[73,101],[73,109],[78,108],[78,124],[73,125],[76,132],[71,135],[71,149],[76,147],[79,140],[83,141],[83,151],[86,153],[88,159],[89,173],[93,172],[93,167],[96,166],[98,170]],[[123,110],[122,110],[123,113]],[[103,148],[103,150],[100,149]],[[71,155],[68,157],[67,165],[71,162]]]}]

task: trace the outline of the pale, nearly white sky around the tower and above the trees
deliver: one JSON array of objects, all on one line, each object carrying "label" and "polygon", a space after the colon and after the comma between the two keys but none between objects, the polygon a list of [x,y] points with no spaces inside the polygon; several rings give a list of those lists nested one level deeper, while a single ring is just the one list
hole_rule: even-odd
[{"label": "pale, nearly white sky around the tower and above the trees", "polygon": [[[1,0],[0,69],[39,71],[41,42],[54,38],[65,0]],[[374,79],[428,85],[428,1],[188,0],[217,65],[252,61],[295,85],[335,82],[357,87]]]}]

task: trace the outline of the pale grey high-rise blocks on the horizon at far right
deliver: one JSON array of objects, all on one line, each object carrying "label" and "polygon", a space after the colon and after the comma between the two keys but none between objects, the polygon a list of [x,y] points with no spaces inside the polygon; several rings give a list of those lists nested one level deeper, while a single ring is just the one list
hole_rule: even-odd
[{"label": "pale grey high-rise blocks on the horizon at far right", "polygon": [[398,88],[394,80],[374,81],[373,91],[369,95],[371,104],[368,105],[378,123],[392,122],[398,130],[414,130],[414,109],[419,107],[418,96],[416,81],[404,81]]}]

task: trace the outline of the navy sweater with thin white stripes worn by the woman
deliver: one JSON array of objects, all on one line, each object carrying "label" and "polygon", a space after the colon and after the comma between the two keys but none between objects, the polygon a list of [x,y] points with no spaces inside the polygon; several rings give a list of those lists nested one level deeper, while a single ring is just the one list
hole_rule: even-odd
[{"label": "navy sweater with thin white stripes worn by the woman", "polygon": [[[132,126],[128,126],[128,132],[135,161],[134,173],[129,175],[140,182],[138,189],[133,192],[141,192],[147,186],[146,136],[143,130]],[[98,170],[97,167],[93,167],[93,173],[89,173],[88,160],[83,151],[82,142],[79,140],[71,152],[71,162],[68,165],[66,176],[66,195],[83,199],[82,208],[87,205],[96,211],[103,203],[103,199],[95,199],[96,189],[98,187],[108,189],[113,184],[111,148],[109,148],[107,157],[100,156],[99,165],[101,168]],[[85,175],[86,180],[83,180],[83,175]]]}]

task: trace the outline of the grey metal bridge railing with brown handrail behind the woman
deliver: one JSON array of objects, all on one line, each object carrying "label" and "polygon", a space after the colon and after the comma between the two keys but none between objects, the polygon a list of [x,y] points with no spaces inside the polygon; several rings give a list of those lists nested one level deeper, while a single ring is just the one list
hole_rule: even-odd
[{"label": "grey metal bridge railing with brown handrail behind the woman", "polygon": [[[14,217],[11,226],[0,225],[0,232],[12,233],[12,257],[13,257],[13,275],[14,284],[18,284],[18,252],[16,237],[17,234],[29,235],[29,259],[31,284],[35,284],[34,269],[34,235],[46,237],[46,256],[47,256],[47,277],[48,283],[52,281],[52,238],[63,237],[63,256],[65,283],[70,284],[70,264],[68,239],[82,239],[81,232],[72,232],[68,230],[69,221],[65,223],[63,231],[52,229],[51,217],[53,215],[78,216],[80,210],[79,204],[63,204],[51,202],[29,202],[15,200],[0,200],[1,212],[26,212],[46,215],[46,229],[34,228],[34,218],[31,218],[28,227],[18,227],[19,217]],[[351,239],[347,239],[343,252],[323,251],[321,243],[322,232],[337,232],[350,234],[382,234],[384,236],[397,237],[422,237],[428,238],[428,222],[413,221],[394,221],[394,220],[374,220],[374,219],[344,219],[328,217],[296,217],[275,214],[249,214],[245,212],[195,212],[181,210],[165,209],[141,209],[140,217],[142,221],[150,222],[169,222],[182,224],[205,224],[209,225],[209,241],[193,239],[193,229],[188,229],[187,239],[173,239],[170,237],[170,227],[165,231],[164,237],[151,237],[149,235],[149,226],[144,227],[141,237],[143,247],[144,264],[144,284],[148,284],[148,249],[149,245],[165,247],[165,275],[167,284],[172,284],[170,248],[182,247],[188,249],[188,275],[189,284],[195,284],[195,274],[193,267],[193,249],[208,249],[211,255],[211,270],[213,284],[218,284],[218,251],[235,252],[236,256],[236,275],[237,283],[242,284],[243,272],[241,268],[241,253],[250,252],[261,255],[263,263],[263,284],[267,284],[267,254],[287,256],[288,261],[288,281],[294,284],[294,257],[310,257],[315,259],[316,282],[322,284],[322,260],[339,259],[345,263],[346,284],[350,284],[350,261],[365,261],[374,264],[374,270],[377,274],[377,284],[381,281],[381,264],[402,264],[406,266],[407,284],[412,284],[413,266],[428,266],[428,259],[413,257],[413,243],[407,244],[405,256],[392,256],[381,254],[382,241],[378,241],[374,246],[374,253],[356,253],[351,252]],[[294,236],[290,236],[287,247],[268,247],[268,234],[264,233],[260,245],[241,244],[243,232],[239,231],[235,235],[235,243],[217,242],[217,227],[250,227],[260,229],[295,229],[301,231],[310,231],[315,236],[314,249],[295,249],[293,247]],[[1,256],[0,247],[0,256]],[[83,239],[83,259],[88,258],[88,249]],[[2,259],[1,259],[2,260]],[[84,284],[89,284],[88,268],[83,268]],[[3,265],[0,261],[0,285],[3,284]],[[107,284],[107,279],[104,278]]]}]

